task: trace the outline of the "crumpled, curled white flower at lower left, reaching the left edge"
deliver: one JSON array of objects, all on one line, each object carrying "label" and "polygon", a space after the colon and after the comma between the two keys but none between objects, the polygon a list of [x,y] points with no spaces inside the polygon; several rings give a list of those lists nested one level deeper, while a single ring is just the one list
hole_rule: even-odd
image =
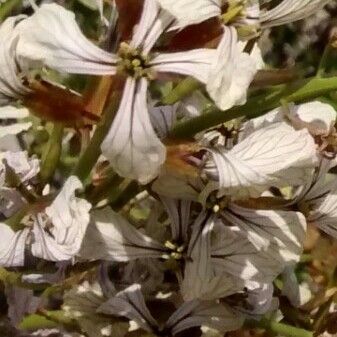
[{"label": "crumpled, curled white flower at lower left, reaching the left edge", "polygon": [[8,225],[0,224],[1,235],[8,238],[1,241],[0,265],[23,265],[26,246],[30,246],[34,256],[42,259],[73,259],[80,250],[91,208],[86,200],[75,196],[79,188],[82,188],[82,184],[77,177],[68,178],[45,212],[32,216],[32,228],[25,227],[14,232]]}]

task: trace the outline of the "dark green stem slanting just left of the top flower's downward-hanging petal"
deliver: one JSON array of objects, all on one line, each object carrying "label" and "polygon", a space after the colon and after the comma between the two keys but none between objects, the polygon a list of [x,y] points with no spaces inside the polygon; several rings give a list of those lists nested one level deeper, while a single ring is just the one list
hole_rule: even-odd
[{"label": "dark green stem slanting just left of the top flower's downward-hanging petal", "polygon": [[108,111],[104,114],[101,123],[97,126],[88,147],[80,157],[72,173],[73,175],[77,176],[82,182],[84,182],[88,178],[92,168],[94,167],[99,156],[101,155],[101,144],[110,130],[110,126],[115,117],[115,112],[118,108],[118,96],[119,95],[117,94],[113,95],[112,104],[109,105]]}]

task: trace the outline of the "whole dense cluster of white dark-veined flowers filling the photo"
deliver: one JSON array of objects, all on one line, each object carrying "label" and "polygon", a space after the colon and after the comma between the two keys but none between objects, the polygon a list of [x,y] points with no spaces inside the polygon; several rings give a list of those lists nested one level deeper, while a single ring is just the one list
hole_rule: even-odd
[{"label": "whole dense cluster of white dark-veined flowers filling the photo", "polygon": [[12,336],[223,336],[305,302],[308,232],[337,238],[337,80],[268,83],[258,42],[328,2],[83,1],[90,34],[56,3],[2,22]]}]

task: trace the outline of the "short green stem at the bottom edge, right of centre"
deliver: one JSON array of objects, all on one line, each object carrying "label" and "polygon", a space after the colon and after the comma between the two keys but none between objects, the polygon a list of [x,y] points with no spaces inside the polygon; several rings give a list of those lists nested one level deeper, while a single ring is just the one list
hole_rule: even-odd
[{"label": "short green stem at the bottom edge, right of centre", "polygon": [[262,328],[285,337],[313,337],[313,333],[311,331],[296,328],[284,323],[270,321],[265,318],[260,321],[248,321],[246,322],[246,326],[249,328]]}]

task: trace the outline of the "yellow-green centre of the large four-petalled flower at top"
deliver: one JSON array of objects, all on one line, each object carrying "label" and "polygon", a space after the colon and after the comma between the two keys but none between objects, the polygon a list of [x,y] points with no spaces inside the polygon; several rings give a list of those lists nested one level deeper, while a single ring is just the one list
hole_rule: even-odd
[{"label": "yellow-green centre of the large four-petalled flower at top", "polygon": [[117,65],[119,73],[134,78],[153,79],[149,69],[149,57],[138,49],[131,48],[126,42],[122,42],[119,46],[118,56],[120,58]]}]

